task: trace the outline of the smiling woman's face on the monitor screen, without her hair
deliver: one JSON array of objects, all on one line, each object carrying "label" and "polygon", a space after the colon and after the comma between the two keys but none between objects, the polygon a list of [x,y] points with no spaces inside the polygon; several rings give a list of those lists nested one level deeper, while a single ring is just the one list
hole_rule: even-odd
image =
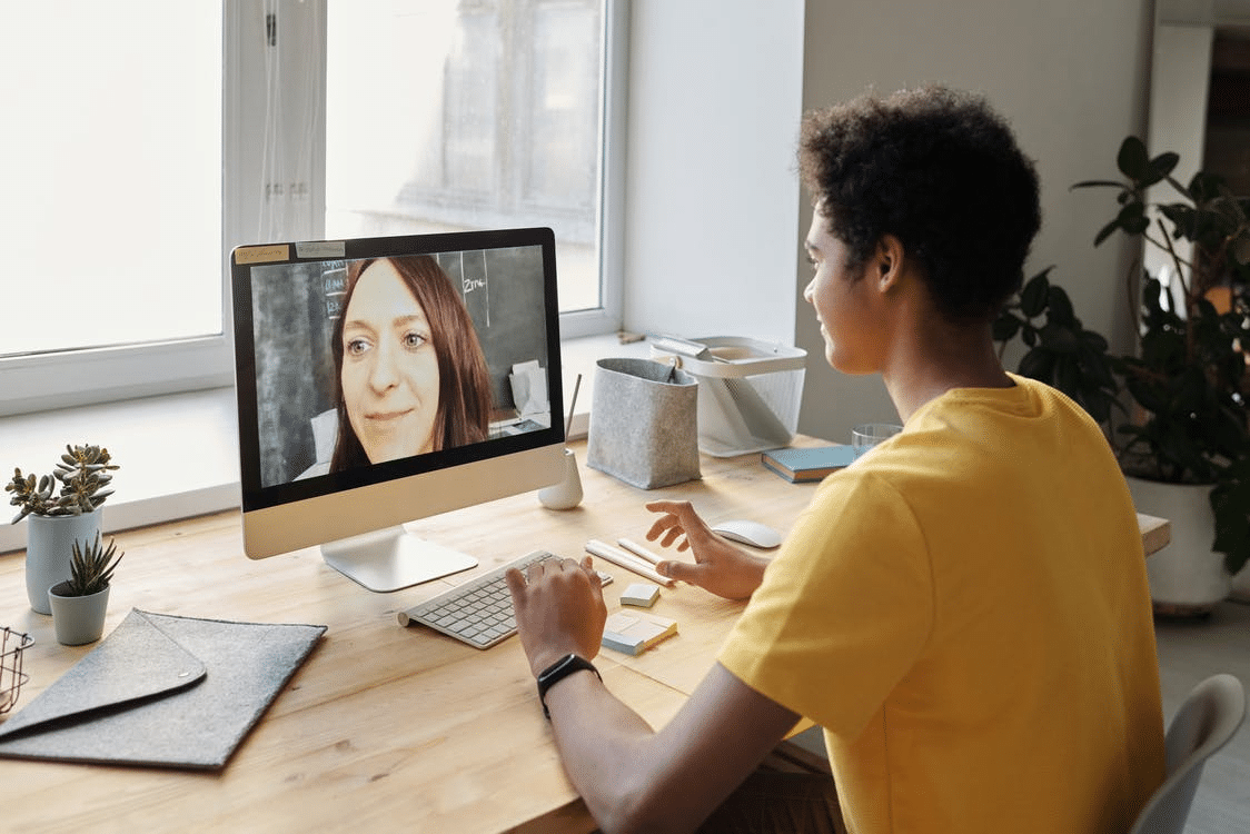
[{"label": "smiling woman's face on the monitor screen, without her hair", "polygon": [[370,463],[434,448],[439,360],[430,323],[389,260],[360,274],[344,311],[341,381]]}]

